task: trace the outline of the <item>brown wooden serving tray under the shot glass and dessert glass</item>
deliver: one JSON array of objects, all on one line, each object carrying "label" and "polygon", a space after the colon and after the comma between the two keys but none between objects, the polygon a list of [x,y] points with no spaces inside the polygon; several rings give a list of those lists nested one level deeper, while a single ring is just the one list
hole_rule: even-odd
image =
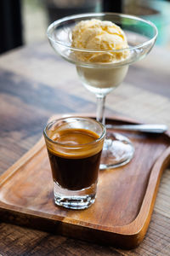
[{"label": "brown wooden serving tray under the shot glass and dessert glass", "polygon": [[[59,118],[61,116],[57,116]],[[108,118],[107,123],[137,123]],[[126,166],[99,172],[97,199],[87,210],[54,206],[43,138],[0,177],[0,218],[82,240],[132,248],[143,240],[161,172],[170,162],[170,137],[122,132],[135,147]]]}]

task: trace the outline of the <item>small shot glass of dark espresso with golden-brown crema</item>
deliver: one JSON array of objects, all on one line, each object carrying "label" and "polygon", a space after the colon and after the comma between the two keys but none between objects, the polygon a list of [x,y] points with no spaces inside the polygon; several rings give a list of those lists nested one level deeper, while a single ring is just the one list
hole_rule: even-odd
[{"label": "small shot glass of dark espresso with golden-brown crema", "polygon": [[43,135],[54,180],[54,202],[90,207],[96,197],[105,126],[95,119],[68,117],[50,122]]}]

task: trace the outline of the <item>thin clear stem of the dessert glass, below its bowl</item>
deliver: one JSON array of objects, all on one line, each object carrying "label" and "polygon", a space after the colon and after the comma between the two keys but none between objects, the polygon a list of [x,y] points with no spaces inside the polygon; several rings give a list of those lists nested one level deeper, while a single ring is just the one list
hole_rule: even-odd
[{"label": "thin clear stem of the dessert glass, below its bowl", "polygon": [[105,95],[97,95],[97,113],[96,119],[105,125]]}]

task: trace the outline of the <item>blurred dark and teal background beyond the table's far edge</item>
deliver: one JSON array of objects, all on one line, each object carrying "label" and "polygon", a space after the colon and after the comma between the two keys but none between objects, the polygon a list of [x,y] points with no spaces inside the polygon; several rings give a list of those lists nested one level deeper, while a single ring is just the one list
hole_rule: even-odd
[{"label": "blurred dark and teal background beyond the table's far edge", "polygon": [[48,25],[66,15],[118,12],[154,22],[156,44],[170,49],[170,0],[0,0],[0,54],[47,40]]}]

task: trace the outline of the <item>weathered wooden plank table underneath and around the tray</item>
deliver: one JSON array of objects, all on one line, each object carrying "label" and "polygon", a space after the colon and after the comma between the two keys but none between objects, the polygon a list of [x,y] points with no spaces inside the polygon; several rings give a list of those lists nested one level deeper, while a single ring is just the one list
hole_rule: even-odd
[{"label": "weathered wooden plank table underneath and around the tray", "polygon": [[[155,47],[133,64],[127,78],[107,97],[106,115],[116,113],[170,128],[170,53]],[[30,149],[54,113],[95,112],[95,97],[83,88],[76,69],[47,42],[0,56],[0,173]],[[116,249],[0,223],[4,255],[170,255],[170,169],[161,185],[150,227],[139,247]]]}]

